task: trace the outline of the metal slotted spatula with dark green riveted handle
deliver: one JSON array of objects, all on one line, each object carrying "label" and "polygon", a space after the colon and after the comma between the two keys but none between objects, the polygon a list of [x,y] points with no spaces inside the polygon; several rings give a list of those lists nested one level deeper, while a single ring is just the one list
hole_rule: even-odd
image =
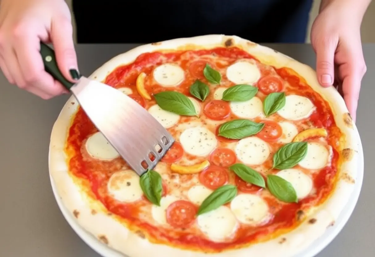
[{"label": "metal slotted spatula with dark green riveted handle", "polygon": [[45,70],[72,92],[96,128],[139,176],[156,166],[174,138],[146,109],[104,83],[83,76],[77,83],[65,79],[54,50],[42,42],[40,54]]}]

